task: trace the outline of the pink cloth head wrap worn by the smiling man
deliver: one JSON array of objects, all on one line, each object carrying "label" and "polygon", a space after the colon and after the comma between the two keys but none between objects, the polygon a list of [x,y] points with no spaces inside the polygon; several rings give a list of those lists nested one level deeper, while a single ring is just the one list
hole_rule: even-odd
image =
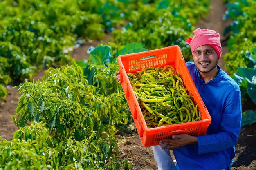
[{"label": "pink cloth head wrap worn by the smiling man", "polygon": [[216,51],[218,59],[220,59],[221,44],[219,33],[216,33],[214,30],[200,28],[196,29],[192,33],[194,34],[193,39],[191,37],[186,39],[186,42],[190,45],[192,54],[199,46],[210,45]]}]

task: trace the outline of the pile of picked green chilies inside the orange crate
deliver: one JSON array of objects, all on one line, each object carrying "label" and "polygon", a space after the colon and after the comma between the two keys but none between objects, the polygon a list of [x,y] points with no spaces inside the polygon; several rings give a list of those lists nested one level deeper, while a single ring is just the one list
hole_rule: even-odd
[{"label": "pile of picked green chilies inside the orange crate", "polygon": [[148,128],[201,119],[198,104],[172,66],[148,67],[127,75]]}]

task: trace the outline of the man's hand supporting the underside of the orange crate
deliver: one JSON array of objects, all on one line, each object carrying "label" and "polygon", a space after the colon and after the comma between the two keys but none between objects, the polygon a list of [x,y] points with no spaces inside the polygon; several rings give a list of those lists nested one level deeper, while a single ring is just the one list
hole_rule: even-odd
[{"label": "man's hand supporting the underside of the orange crate", "polygon": [[162,149],[173,150],[179,148],[181,146],[185,146],[188,144],[197,144],[198,137],[191,136],[186,133],[180,135],[172,135],[171,139],[163,139],[159,142],[159,144],[167,144],[169,146],[163,147]]}]

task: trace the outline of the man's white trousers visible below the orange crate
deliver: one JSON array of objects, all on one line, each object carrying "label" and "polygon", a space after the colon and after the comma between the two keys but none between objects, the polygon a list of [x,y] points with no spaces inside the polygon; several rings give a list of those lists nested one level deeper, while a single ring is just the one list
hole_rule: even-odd
[{"label": "man's white trousers visible below the orange crate", "polygon": [[162,150],[165,146],[167,145],[151,146],[154,153],[154,159],[157,162],[158,170],[176,170],[170,151],[168,149]]}]

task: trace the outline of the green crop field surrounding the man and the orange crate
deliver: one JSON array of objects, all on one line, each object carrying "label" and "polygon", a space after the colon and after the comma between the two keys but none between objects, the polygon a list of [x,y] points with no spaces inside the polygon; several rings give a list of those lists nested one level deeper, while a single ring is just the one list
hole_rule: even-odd
[{"label": "green crop field surrounding the man and the orange crate", "polygon": [[[118,56],[178,45],[191,61],[185,39],[198,27],[220,33],[218,64],[242,93],[231,170],[256,170],[255,0],[0,0],[0,8],[0,170],[157,170],[115,79]],[[193,110],[197,117],[179,121],[200,120]],[[170,123],[156,122],[148,128]]]}]

